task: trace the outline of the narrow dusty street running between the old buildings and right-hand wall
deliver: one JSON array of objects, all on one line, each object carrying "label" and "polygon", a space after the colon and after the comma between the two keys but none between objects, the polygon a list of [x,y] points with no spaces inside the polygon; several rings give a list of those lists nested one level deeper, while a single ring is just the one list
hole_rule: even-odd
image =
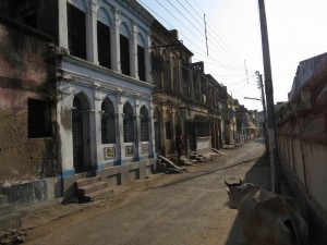
[{"label": "narrow dusty street running between the old buildings and right-hand wall", "polygon": [[226,149],[186,173],[164,174],[117,200],[35,228],[25,244],[245,245],[223,180],[241,177],[269,188],[264,149],[259,140]]}]

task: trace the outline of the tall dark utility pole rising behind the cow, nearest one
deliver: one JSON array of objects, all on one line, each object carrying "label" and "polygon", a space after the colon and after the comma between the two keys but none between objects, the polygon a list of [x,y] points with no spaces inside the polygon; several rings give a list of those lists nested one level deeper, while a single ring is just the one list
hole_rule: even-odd
[{"label": "tall dark utility pole rising behind the cow, nearest one", "polygon": [[269,41],[267,30],[267,20],[265,1],[258,0],[261,29],[262,29],[262,45],[263,45],[263,60],[265,73],[265,91],[267,99],[267,121],[268,121],[268,138],[269,138],[269,158],[270,158],[270,175],[271,175],[271,191],[280,193],[280,167],[277,159],[276,147],[276,122],[275,122],[275,106],[274,106],[274,88],[271,77]]}]

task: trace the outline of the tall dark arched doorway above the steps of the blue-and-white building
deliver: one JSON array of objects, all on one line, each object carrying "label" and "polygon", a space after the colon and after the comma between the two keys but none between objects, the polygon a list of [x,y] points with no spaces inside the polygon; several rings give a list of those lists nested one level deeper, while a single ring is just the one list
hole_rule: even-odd
[{"label": "tall dark arched doorway above the steps of the blue-and-white building", "polygon": [[90,166],[89,105],[83,94],[75,96],[72,110],[73,162],[76,173]]}]

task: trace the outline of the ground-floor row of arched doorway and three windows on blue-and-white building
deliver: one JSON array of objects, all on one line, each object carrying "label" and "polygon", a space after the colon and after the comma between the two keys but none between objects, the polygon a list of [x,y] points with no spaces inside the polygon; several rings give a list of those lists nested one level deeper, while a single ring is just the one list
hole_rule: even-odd
[{"label": "ground-floor row of arched doorway and three windows on blue-and-white building", "polygon": [[[89,101],[84,91],[74,95],[72,99],[72,149],[75,172],[85,171],[94,162],[117,166],[152,157],[153,120],[145,103],[136,107],[126,99],[124,103],[119,105],[107,96],[95,102],[95,112],[99,113],[92,113],[93,106]],[[92,152],[97,154],[93,156]]]}]

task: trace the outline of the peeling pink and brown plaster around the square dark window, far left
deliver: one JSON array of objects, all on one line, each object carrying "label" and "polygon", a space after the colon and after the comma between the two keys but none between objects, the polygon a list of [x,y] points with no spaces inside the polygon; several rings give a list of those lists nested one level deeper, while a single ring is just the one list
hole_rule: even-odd
[{"label": "peeling pink and brown plaster around the square dark window, far left", "polygon": [[49,40],[0,19],[0,185],[56,175],[53,139],[28,138],[28,98],[46,99]]}]

